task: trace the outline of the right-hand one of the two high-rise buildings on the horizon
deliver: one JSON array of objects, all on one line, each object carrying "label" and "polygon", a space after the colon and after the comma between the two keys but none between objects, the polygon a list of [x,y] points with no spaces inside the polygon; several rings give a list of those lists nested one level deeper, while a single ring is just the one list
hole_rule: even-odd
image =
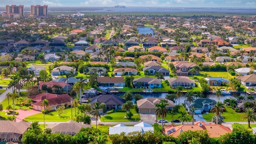
[{"label": "right-hand one of the two high-rise buildings on the horizon", "polygon": [[31,5],[30,15],[32,16],[47,16],[48,15],[48,5]]}]

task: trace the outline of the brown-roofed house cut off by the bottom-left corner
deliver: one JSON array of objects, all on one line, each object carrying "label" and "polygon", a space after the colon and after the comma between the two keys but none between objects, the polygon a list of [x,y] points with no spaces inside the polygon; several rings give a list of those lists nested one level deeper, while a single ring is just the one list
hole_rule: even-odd
[{"label": "brown-roofed house cut off by the bottom-left corner", "polygon": [[18,120],[16,122],[10,120],[1,120],[0,122],[0,138],[3,144],[21,144],[22,136],[30,127],[29,122]]}]

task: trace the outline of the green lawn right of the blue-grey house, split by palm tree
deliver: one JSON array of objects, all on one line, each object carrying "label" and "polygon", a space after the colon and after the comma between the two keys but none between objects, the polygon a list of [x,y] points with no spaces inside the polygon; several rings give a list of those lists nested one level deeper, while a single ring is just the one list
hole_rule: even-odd
[{"label": "green lawn right of the blue-grey house, split by palm tree", "polygon": [[[223,112],[224,122],[240,122],[242,120],[242,116],[244,115],[243,112],[235,112],[232,108],[226,108],[227,112]],[[202,114],[203,118],[206,121],[212,121],[212,116],[214,114],[209,112],[208,114]]]}]

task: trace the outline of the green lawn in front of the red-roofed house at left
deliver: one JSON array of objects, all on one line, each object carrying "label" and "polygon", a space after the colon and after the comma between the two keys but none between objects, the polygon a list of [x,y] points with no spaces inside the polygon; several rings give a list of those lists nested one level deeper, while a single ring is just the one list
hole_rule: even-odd
[{"label": "green lawn in front of the red-roofed house at left", "polygon": [[[78,109],[76,108],[76,112],[78,112]],[[73,116],[75,114],[75,108],[73,108]],[[28,116],[24,119],[27,122],[43,122],[44,121],[44,114],[34,114],[32,116]],[[58,112],[53,111],[49,114],[45,114],[45,121],[46,122],[66,122],[68,120],[71,120],[71,108],[66,108],[64,110],[64,113],[58,116]]]}]

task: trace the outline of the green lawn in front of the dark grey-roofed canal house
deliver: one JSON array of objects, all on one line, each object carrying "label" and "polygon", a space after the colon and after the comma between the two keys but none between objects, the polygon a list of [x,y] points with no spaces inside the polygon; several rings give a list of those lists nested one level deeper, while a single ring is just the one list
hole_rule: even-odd
[{"label": "green lawn in front of the dark grey-roofed canal house", "polygon": [[126,116],[125,112],[114,112],[112,114],[107,114],[105,116],[101,116],[100,121],[101,122],[136,122],[140,121],[140,113],[137,113],[134,109],[130,110],[133,114],[132,118],[126,119],[124,116]]}]

